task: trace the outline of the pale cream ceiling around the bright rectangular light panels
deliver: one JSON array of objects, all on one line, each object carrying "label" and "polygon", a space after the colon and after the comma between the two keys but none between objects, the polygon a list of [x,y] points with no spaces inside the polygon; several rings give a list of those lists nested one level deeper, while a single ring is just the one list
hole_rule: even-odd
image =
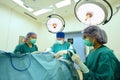
[{"label": "pale cream ceiling around the bright rectangular light panels", "polygon": [[[45,22],[47,20],[47,16],[51,14],[58,14],[65,19],[72,19],[72,17],[75,17],[74,7],[76,3],[74,0],[71,0],[70,5],[62,7],[62,8],[56,8],[55,4],[63,0],[22,0],[22,1],[24,2],[25,6],[29,6],[33,8],[34,11],[37,11],[43,8],[48,8],[48,9],[50,8],[53,10],[45,14],[35,16],[32,14],[32,12],[27,11],[23,7],[13,2],[12,0],[0,0],[0,4],[10,7],[11,9],[21,14],[24,14],[28,18],[31,18],[38,23]],[[113,8],[115,8],[117,4],[120,4],[120,0],[108,0],[108,1],[112,5]],[[101,0],[100,2],[103,3],[103,0]]]}]

